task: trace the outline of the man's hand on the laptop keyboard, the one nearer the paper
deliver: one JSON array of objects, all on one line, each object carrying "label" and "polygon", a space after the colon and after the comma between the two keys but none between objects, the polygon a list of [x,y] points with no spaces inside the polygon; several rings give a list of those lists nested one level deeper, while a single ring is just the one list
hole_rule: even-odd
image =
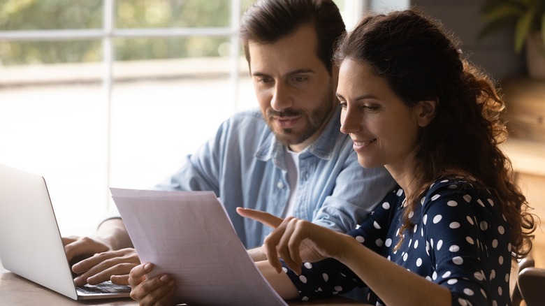
[{"label": "man's hand on the laptop keyboard, the one nearer the paper", "polygon": [[78,274],[74,283],[82,286],[111,280],[114,284],[126,285],[129,284],[129,272],[139,264],[140,258],[132,248],[94,254],[72,266],[73,272]]}]

